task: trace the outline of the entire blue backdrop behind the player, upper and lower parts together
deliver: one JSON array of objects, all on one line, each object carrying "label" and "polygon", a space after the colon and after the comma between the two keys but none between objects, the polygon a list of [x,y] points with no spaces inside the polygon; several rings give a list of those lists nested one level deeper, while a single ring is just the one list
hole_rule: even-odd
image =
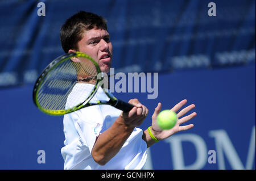
[{"label": "entire blue backdrop behind the player, upper and lower parts together", "polygon": [[[37,15],[38,2],[46,16]],[[108,20],[115,72],[159,73],[158,98],[117,98],[139,98],[151,115],[158,102],[196,104],[195,127],[152,146],[145,169],[255,169],[255,1],[57,0],[0,2],[0,169],[63,169],[63,117],[40,112],[32,87],[63,54],[60,26],[79,10]]]}]

